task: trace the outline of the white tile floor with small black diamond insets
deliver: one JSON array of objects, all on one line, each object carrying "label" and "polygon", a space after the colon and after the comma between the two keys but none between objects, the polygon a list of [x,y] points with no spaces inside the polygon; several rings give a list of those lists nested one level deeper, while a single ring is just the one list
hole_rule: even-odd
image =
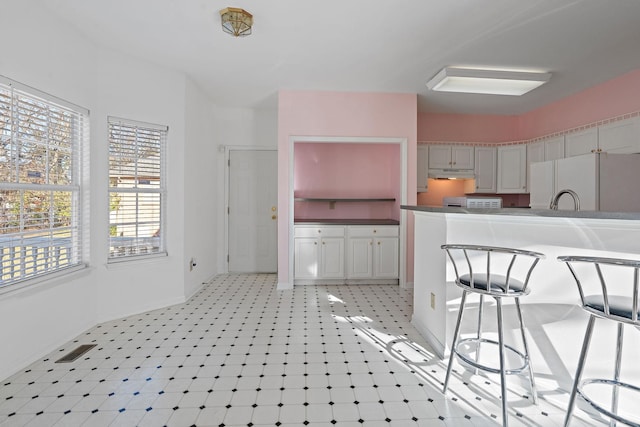
[{"label": "white tile floor with small black diamond insets", "polygon": [[[498,378],[445,362],[411,291],[216,277],[188,302],[98,325],[0,383],[4,426],[495,426]],[[72,363],[54,363],[97,344]],[[511,426],[560,426],[509,377]],[[540,388],[540,385],[539,385]],[[577,410],[577,412],[580,412]],[[594,425],[576,418],[572,426]]]}]

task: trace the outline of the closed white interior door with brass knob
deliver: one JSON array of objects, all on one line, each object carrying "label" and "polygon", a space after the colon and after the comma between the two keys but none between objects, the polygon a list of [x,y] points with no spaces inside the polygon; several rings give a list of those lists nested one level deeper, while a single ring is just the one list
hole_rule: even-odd
[{"label": "closed white interior door with brass knob", "polygon": [[277,271],[277,173],[275,150],[229,151],[230,272]]}]

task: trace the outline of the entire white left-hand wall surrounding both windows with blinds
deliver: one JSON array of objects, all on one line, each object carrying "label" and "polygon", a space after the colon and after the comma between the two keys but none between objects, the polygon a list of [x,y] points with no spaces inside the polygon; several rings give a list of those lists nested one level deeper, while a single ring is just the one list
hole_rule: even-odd
[{"label": "entire white left-hand wall surrounding both windows with blinds", "polygon": [[[29,22],[25,31],[25,23]],[[20,37],[14,33],[21,33]],[[212,108],[184,74],[92,45],[34,2],[5,0],[0,13],[0,74],[90,110],[91,143],[85,153],[90,191],[85,236],[89,268],[56,282],[0,295],[0,378],[5,378],[98,322],[182,302],[215,268],[216,220],[203,216],[196,186],[203,180],[206,207],[216,211],[215,162],[186,167],[213,136]],[[200,111],[202,109],[202,111]],[[197,115],[196,115],[197,114]],[[107,116],[169,126],[167,257],[107,265]],[[186,118],[188,116],[188,119]],[[188,172],[187,172],[188,171]],[[186,190],[186,191],[185,191]],[[189,223],[189,226],[185,224]],[[218,234],[219,235],[219,234]],[[187,275],[188,257],[214,258]],[[200,255],[202,254],[202,255]]]}]

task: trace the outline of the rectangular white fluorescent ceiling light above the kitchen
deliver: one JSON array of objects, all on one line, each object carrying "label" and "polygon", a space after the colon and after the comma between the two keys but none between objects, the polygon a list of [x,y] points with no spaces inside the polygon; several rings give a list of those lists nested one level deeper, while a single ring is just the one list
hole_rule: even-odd
[{"label": "rectangular white fluorescent ceiling light above the kitchen", "polygon": [[427,87],[440,92],[523,95],[546,83],[551,73],[479,68],[446,67]]}]

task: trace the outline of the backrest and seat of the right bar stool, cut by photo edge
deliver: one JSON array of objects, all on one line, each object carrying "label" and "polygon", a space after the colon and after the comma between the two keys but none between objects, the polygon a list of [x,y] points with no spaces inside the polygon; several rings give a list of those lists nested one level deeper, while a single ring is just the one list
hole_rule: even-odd
[{"label": "backrest and seat of the right bar stool, cut by photo edge", "polygon": [[559,256],[578,286],[582,308],[596,316],[640,326],[640,260]]}]

